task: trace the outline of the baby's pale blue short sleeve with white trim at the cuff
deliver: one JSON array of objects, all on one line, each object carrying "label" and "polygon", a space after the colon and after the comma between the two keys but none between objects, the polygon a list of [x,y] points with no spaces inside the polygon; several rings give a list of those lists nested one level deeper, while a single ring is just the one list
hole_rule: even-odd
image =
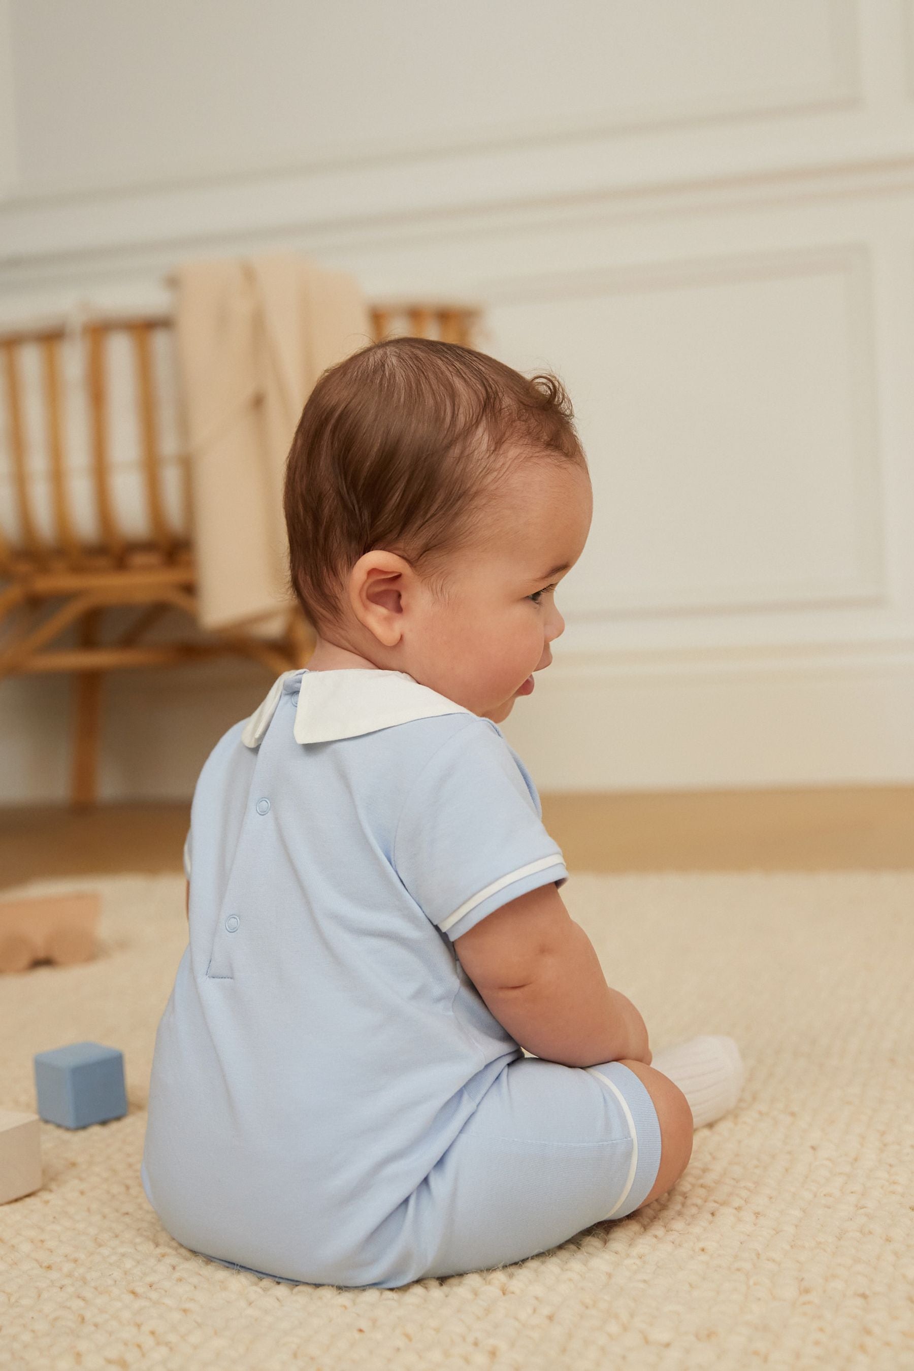
[{"label": "baby's pale blue short sleeve with white trim at the cuff", "polygon": [[533,783],[485,721],[460,729],[419,772],[400,812],[393,866],[451,941],[518,895],[567,880]]}]

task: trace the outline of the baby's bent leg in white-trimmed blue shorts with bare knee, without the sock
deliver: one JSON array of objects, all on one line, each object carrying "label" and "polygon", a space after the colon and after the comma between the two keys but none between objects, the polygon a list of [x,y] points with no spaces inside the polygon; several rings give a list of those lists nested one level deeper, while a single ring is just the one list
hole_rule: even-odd
[{"label": "baby's bent leg in white-trimmed blue shorts with bare knee, without the sock", "polygon": [[659,1071],[519,1058],[404,1202],[374,1283],[504,1265],[623,1219],[670,1189],[691,1149],[688,1102]]}]

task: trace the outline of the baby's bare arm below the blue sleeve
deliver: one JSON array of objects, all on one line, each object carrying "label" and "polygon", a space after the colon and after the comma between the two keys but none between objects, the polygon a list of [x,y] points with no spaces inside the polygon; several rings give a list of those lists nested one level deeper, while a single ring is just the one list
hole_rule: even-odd
[{"label": "baby's bare arm below the blue sleeve", "polygon": [[454,946],[495,1017],[528,1052],[566,1067],[622,1058],[651,1065],[641,1015],[607,986],[591,939],[554,884],[496,909]]}]

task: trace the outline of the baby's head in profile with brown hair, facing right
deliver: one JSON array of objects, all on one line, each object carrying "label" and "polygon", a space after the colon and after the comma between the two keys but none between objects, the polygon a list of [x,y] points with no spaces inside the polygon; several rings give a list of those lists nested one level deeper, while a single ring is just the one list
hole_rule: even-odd
[{"label": "baby's head in profile with brown hair, facing right", "polygon": [[554,377],[452,343],[377,343],[304,406],[285,480],[292,587],[319,651],[500,723],[552,661],[555,587],[591,509]]}]

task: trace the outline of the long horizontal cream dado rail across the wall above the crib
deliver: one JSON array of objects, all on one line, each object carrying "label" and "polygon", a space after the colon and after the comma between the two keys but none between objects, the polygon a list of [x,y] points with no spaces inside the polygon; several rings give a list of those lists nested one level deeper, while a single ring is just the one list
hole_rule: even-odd
[{"label": "long horizontal cream dado rail across the wall above the crib", "polygon": [[[378,177],[328,171],[236,184],[0,200],[0,291],[164,273],[206,252],[286,245],[326,254],[441,243],[562,225],[719,215],[840,199],[914,195],[914,130],[903,148],[719,174],[607,184],[599,158],[544,169],[475,159],[471,169],[411,163]],[[580,149],[578,149],[580,152]],[[578,167],[578,162],[584,163]],[[580,170],[580,174],[578,174]],[[551,189],[544,192],[543,186]]]}]

